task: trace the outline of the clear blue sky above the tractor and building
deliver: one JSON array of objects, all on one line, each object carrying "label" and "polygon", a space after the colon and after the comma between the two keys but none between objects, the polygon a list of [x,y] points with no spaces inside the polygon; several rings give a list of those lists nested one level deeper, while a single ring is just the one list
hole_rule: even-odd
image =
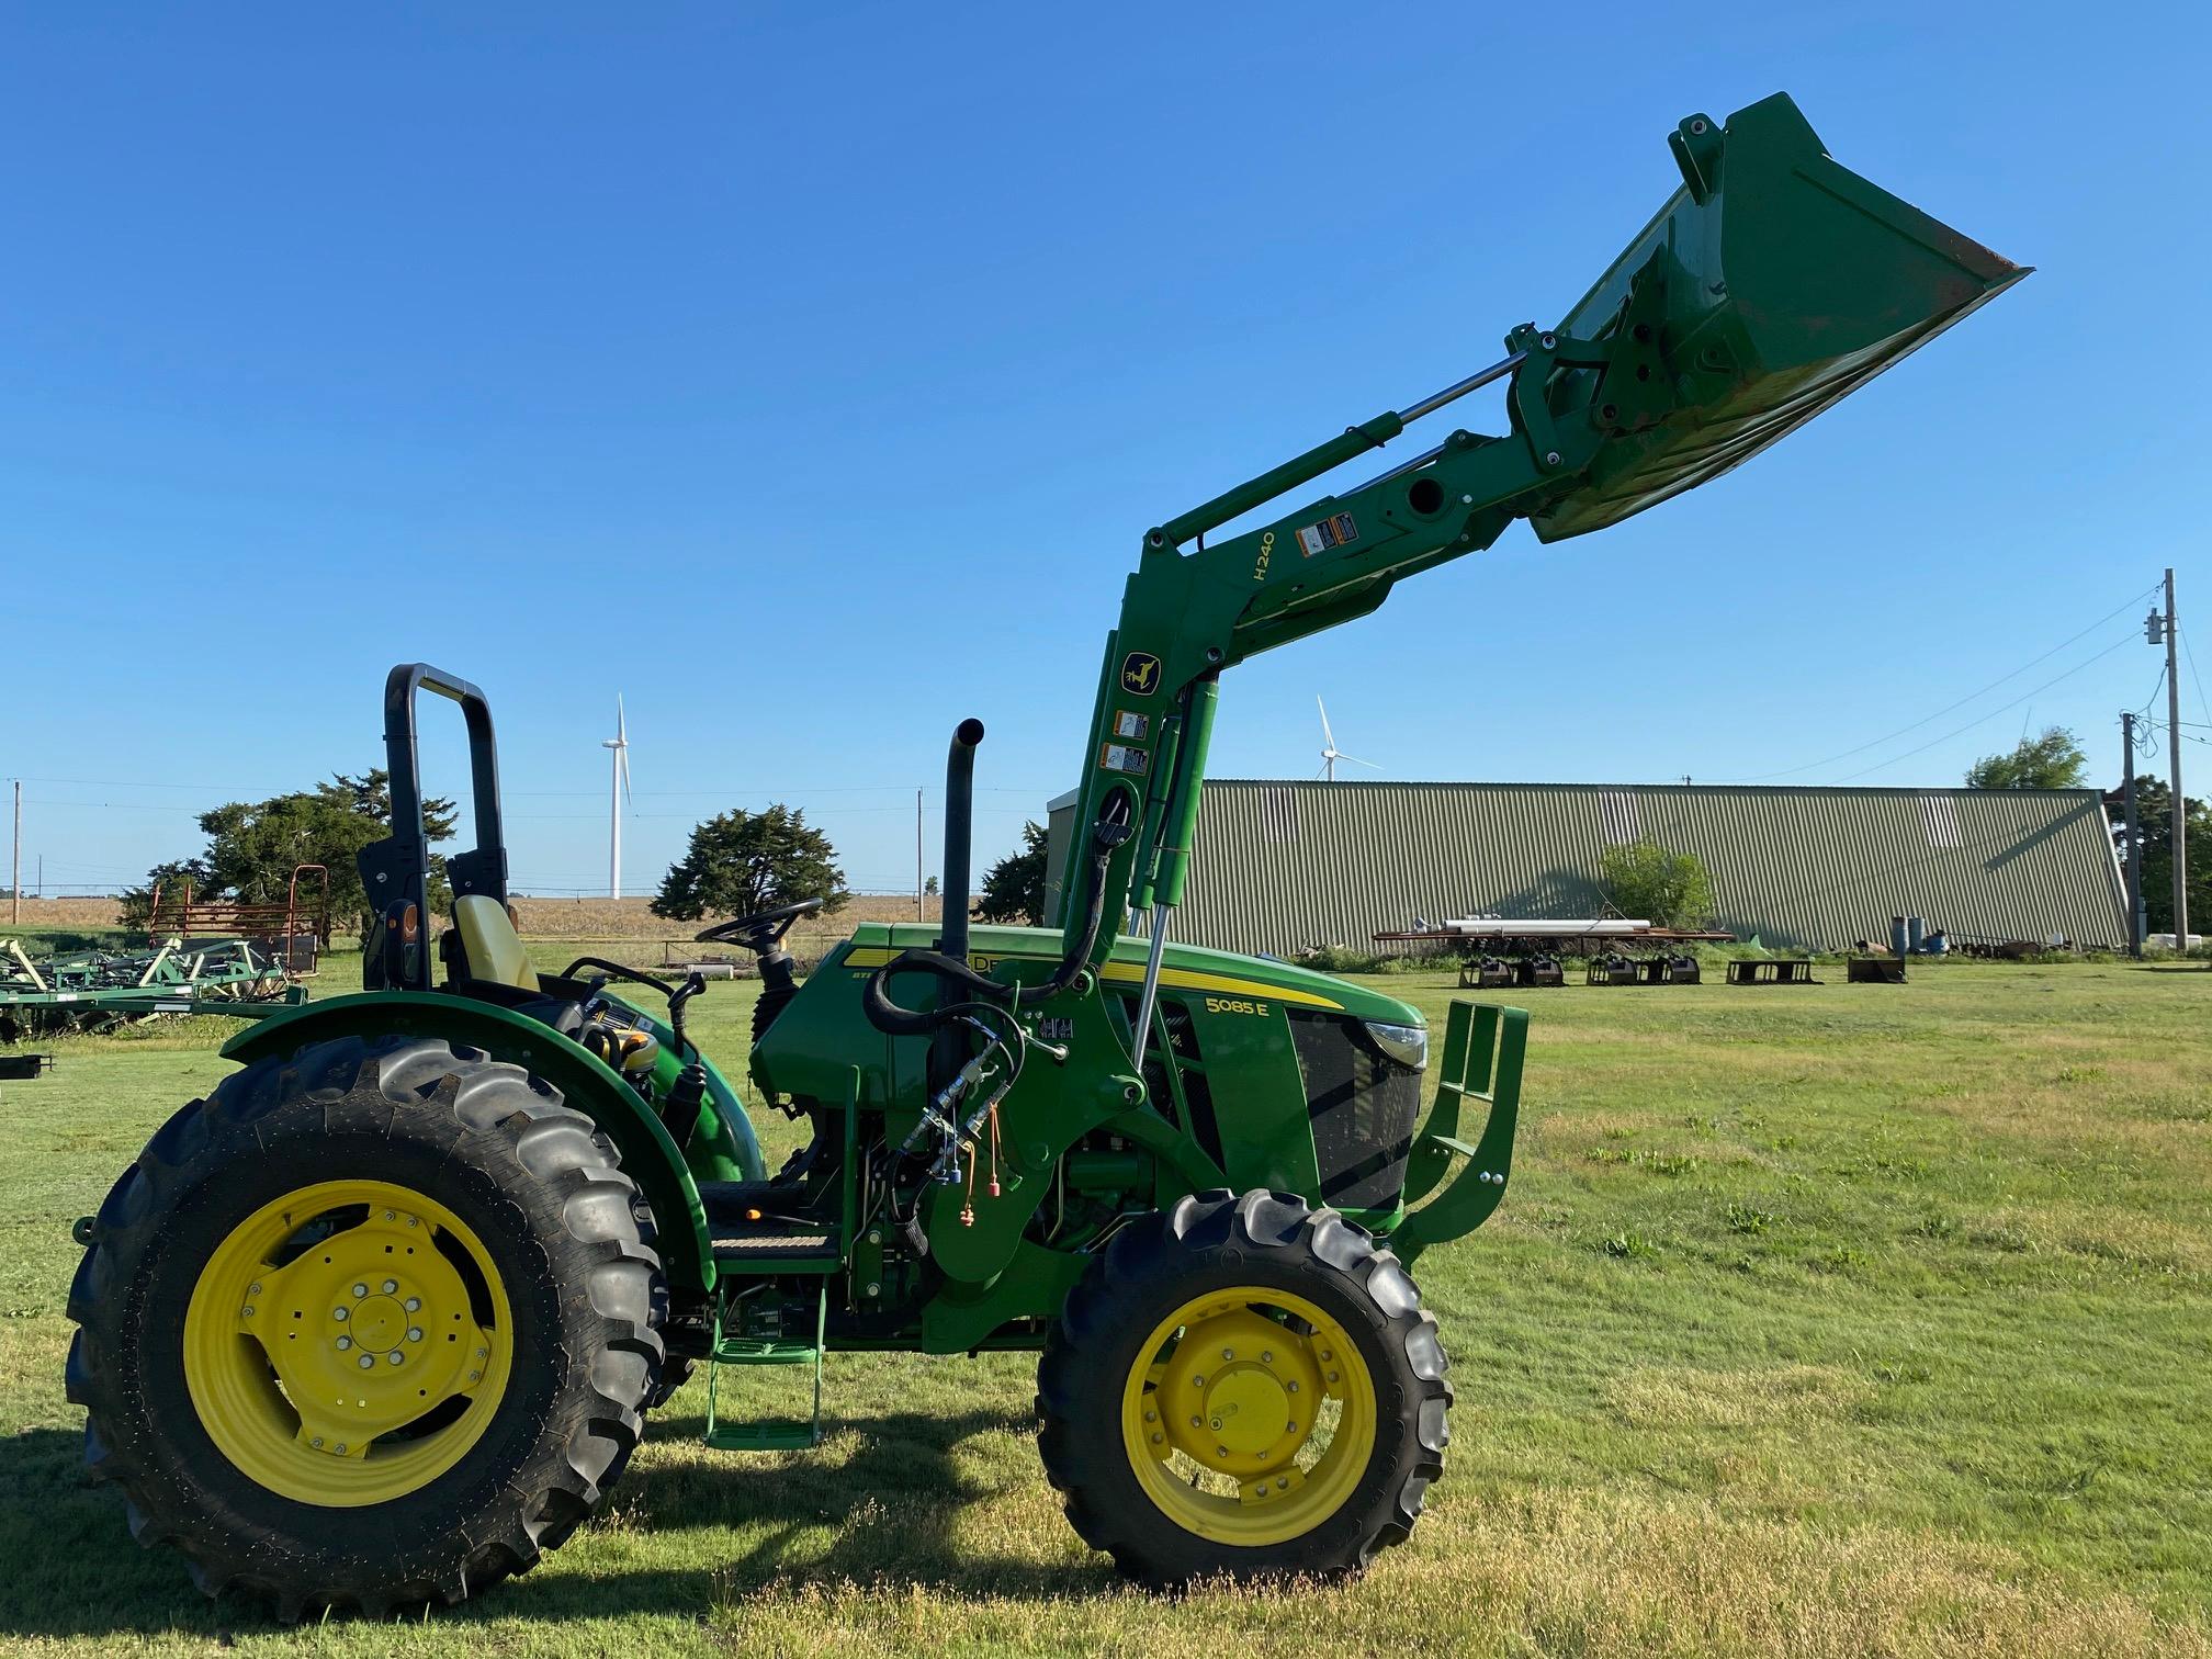
[{"label": "clear blue sky above the tractor and building", "polygon": [[1214,774],[1310,776],[1321,692],[1363,776],[1953,783],[2064,721],[2117,779],[2130,595],[2212,606],[2197,7],[9,13],[0,776],[49,887],[376,763],[411,657],[493,697],[520,887],[604,883],[617,690],[630,887],[770,799],[911,883],[962,714],[995,854],[1146,524],[1555,321],[1674,122],[1776,88],[2039,274],[1710,489],[1248,664]]}]

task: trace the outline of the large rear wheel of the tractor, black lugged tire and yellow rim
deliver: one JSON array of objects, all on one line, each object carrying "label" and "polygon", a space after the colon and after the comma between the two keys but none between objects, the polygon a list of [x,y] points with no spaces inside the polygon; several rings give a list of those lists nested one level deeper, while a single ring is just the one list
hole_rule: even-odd
[{"label": "large rear wheel of the tractor, black lugged tire and yellow rim", "polygon": [[[84,1460],[142,1544],[285,1619],[524,1573],[622,1475],[661,1369],[635,1203],[584,1113],[480,1051],[378,1035],[257,1062],[100,1206],[69,1294]],[[356,1360],[369,1416],[299,1387],[352,1396]],[[374,1433],[310,1451],[325,1420]]]}]

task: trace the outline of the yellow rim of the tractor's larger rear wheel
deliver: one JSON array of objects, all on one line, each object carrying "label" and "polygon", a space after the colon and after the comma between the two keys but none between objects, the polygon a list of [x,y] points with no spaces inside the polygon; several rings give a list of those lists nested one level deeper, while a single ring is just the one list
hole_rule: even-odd
[{"label": "yellow rim of the tractor's larger rear wheel", "polygon": [[263,1203],[208,1256],[184,1316],[184,1383],[208,1438],[303,1504],[427,1486],[484,1436],[511,1365],[484,1243],[389,1181]]}]

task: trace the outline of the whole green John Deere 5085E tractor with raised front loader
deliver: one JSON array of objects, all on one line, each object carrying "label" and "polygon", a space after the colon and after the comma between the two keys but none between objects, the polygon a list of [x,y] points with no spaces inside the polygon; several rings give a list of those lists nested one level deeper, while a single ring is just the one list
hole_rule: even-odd
[{"label": "whole green John Deere 5085E tractor with raised front loader", "polygon": [[[290,1617],[456,1601],[562,1544],[695,1367],[712,1447],[781,1451],[847,1349],[1035,1349],[1046,1478],[1144,1582],[1402,1542],[1451,1407],[1409,1267],[1504,1197],[1526,1015],[1455,1004],[1431,1066],[1402,1002],[1168,942],[1219,677],[1515,518],[1548,542],[1717,478],[2024,274],[1787,97],[1668,142],[1681,188],[1557,327],[1144,533],[1057,927],[969,927],[967,721],[942,927],[860,927],[805,978],[805,896],[699,936],[759,960],[748,1093],[810,1130],[779,1170],[686,1035],[697,978],[533,971],[489,706],[396,668],[367,989],[237,1035],[80,1223],[69,1398],[139,1542]],[[1506,431],[1206,540],[1498,380]],[[425,690],[473,757],[442,927]],[[721,1371],[757,1365],[812,1371],[814,1420],[734,1413]]]}]

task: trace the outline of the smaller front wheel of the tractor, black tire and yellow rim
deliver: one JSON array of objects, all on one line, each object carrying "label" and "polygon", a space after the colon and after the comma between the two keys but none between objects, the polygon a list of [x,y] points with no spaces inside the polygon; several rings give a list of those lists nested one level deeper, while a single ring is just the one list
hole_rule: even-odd
[{"label": "smaller front wheel of the tractor, black tire and yellow rim", "polygon": [[1068,1522],[1155,1586],[1347,1577],[1444,1471],[1436,1318],[1334,1210],[1208,1192],[1124,1228],[1037,1367]]}]

